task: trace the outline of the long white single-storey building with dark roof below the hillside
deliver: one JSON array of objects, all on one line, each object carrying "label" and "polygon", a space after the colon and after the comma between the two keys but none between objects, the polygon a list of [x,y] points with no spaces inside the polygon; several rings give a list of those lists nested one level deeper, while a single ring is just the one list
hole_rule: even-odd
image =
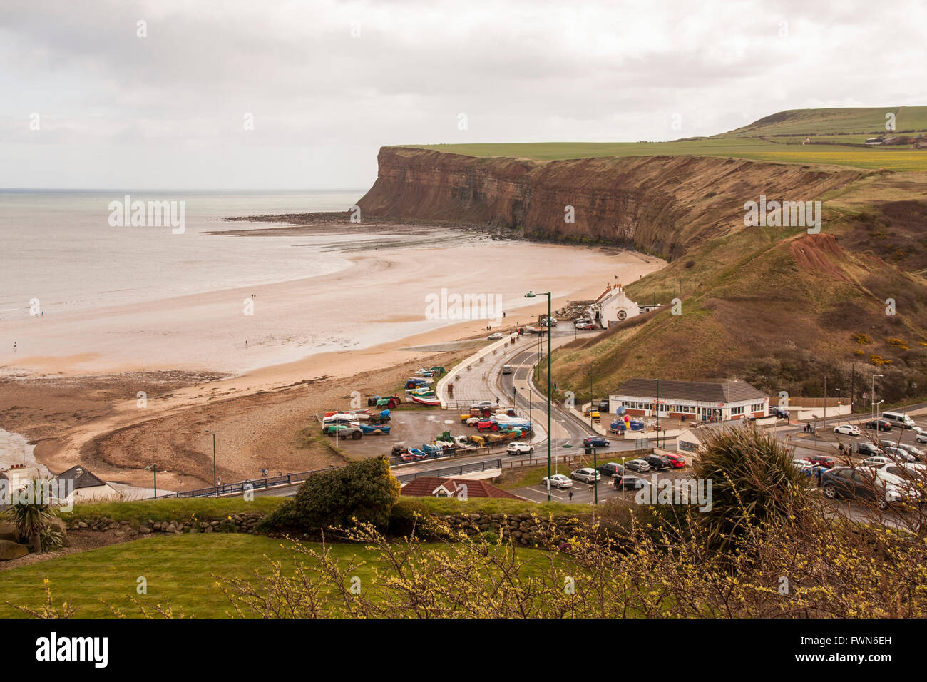
[{"label": "long white single-storey building with dark roof below the hillside", "polygon": [[765,392],[746,381],[631,379],[608,395],[608,411],[624,407],[631,417],[728,421],[769,414]]}]

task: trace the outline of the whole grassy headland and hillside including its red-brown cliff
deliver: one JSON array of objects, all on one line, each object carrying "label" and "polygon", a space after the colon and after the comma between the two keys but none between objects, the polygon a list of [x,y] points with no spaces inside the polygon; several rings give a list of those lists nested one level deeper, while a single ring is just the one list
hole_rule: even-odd
[{"label": "whole grassy headland and hillside including its red-brown cliff", "polygon": [[[923,107],[804,109],[668,143],[382,148],[360,204],[366,215],[504,225],[667,258],[663,270],[625,284],[639,302],[668,307],[679,297],[683,314],[665,307],[558,351],[561,391],[588,394],[582,363],[593,367],[597,395],[654,376],[739,378],[814,396],[827,376],[832,395],[848,396],[852,385],[858,398],[878,372],[887,401],[923,397],[927,150],[798,143],[874,134],[887,110],[899,130],[925,127]],[[744,203],[761,194],[822,201],[821,233],[744,227]],[[885,314],[887,299],[896,315]]]}]

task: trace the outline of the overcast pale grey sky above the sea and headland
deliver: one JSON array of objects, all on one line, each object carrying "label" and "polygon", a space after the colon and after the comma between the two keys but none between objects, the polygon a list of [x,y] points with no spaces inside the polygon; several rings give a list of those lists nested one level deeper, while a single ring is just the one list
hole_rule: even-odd
[{"label": "overcast pale grey sky above the sea and headland", "polygon": [[918,0],[0,0],[0,187],[363,188],[384,145],[923,105],[925,25]]}]

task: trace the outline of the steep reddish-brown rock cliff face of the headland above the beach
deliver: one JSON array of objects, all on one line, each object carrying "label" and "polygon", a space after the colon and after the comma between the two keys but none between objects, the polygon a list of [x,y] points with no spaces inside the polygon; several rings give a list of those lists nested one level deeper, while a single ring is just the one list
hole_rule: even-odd
[{"label": "steep reddish-brown rock cliff face of the headland above the beach", "polygon": [[[716,157],[532,161],[381,148],[362,215],[521,226],[528,236],[633,245],[676,258],[744,228],[743,204],[806,201],[862,176]],[[575,222],[566,222],[572,206]]]}]

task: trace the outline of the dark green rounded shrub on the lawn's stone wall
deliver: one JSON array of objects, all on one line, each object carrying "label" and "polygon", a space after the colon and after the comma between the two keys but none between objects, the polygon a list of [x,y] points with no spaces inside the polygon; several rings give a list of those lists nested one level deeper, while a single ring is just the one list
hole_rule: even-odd
[{"label": "dark green rounded shrub on the lawn's stone wall", "polygon": [[260,521],[258,530],[319,534],[332,527],[348,528],[355,521],[385,529],[399,496],[400,483],[387,457],[363,459],[312,475],[292,500]]}]

